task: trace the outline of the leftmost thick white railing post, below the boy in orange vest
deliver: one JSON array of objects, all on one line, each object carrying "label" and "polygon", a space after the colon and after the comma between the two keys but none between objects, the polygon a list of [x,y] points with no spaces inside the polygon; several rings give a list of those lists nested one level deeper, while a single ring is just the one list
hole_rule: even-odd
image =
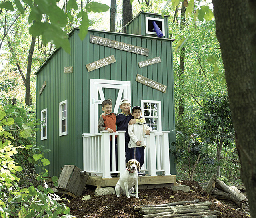
[{"label": "leftmost thick white railing post, below the boy in orange vest", "polygon": [[103,130],[102,140],[101,140],[101,148],[102,148],[102,178],[111,178],[110,176],[110,138],[109,132],[107,130]]}]

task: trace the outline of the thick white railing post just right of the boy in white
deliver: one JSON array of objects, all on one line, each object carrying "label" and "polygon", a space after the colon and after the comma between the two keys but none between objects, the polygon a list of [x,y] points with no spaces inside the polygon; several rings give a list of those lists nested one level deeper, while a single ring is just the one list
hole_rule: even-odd
[{"label": "thick white railing post just right of the boy in white", "polygon": [[148,174],[156,176],[156,139],[155,131],[152,131],[148,137]]}]

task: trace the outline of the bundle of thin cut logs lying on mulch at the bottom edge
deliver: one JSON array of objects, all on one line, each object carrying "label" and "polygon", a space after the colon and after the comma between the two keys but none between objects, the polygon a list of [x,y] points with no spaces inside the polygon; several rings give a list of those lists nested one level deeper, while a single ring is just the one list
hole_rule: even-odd
[{"label": "bundle of thin cut logs lying on mulch at the bottom edge", "polygon": [[[188,204],[188,205],[184,205]],[[220,212],[217,210],[210,211],[209,205],[212,202],[199,202],[199,199],[187,202],[173,202],[169,204],[160,205],[141,205],[134,207],[144,218],[158,218],[158,217],[171,217],[171,218],[189,218],[189,217],[216,217]]]}]

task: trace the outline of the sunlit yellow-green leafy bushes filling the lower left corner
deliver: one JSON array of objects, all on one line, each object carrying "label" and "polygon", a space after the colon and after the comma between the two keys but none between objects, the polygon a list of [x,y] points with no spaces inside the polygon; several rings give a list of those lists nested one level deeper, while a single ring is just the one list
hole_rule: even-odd
[{"label": "sunlit yellow-green leafy bushes filling the lower left corner", "polygon": [[[33,164],[29,166],[30,161],[40,166],[50,164],[39,149],[28,144],[33,141],[32,129],[37,123],[31,121],[24,124],[29,120],[25,112],[26,109],[13,105],[0,106],[0,214],[2,217],[57,217],[58,214],[70,217],[70,209],[57,202],[58,196],[44,181],[44,177],[48,176],[46,169],[37,175],[37,187],[32,182],[28,183],[26,173],[22,174],[23,168],[25,171],[28,167],[34,169]],[[23,163],[24,160],[26,163],[22,168],[18,162]],[[56,177],[53,180],[57,184]]]}]

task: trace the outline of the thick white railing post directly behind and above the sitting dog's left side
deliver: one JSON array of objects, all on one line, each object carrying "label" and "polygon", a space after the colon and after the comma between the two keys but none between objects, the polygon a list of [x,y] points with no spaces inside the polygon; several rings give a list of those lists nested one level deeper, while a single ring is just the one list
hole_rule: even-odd
[{"label": "thick white railing post directly behind and above the sitting dog's left side", "polygon": [[120,171],[120,175],[122,175],[125,171],[125,138],[124,133],[125,130],[116,131],[119,133],[117,137],[117,151],[118,151],[118,170]]}]

